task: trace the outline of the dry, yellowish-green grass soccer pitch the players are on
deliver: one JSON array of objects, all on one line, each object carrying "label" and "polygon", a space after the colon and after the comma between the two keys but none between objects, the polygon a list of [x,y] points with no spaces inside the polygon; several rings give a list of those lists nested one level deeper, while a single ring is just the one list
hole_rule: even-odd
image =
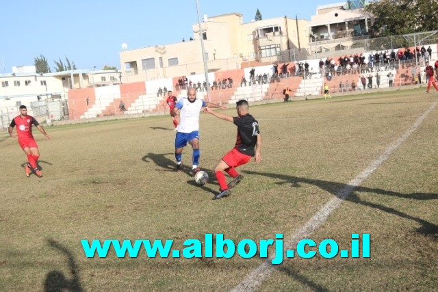
[{"label": "dry, yellowish-green grass soccer pitch the players are on", "polygon": [[[0,290],[436,291],[437,103],[420,89],[250,107],[263,161],[237,168],[244,180],[220,200],[211,200],[212,170],[236,127],[211,115],[201,114],[200,167],[210,178],[201,187],[189,174],[190,146],[184,172],[175,172],[170,116],[46,127],[51,140],[34,129],[42,178],[25,176],[23,151],[0,133]],[[118,258],[111,249],[88,258],[81,245],[172,239],[183,250],[209,233],[236,245],[283,234],[292,248],[297,239],[333,239],[339,250],[368,233],[370,257],[268,265],[261,250]]]}]

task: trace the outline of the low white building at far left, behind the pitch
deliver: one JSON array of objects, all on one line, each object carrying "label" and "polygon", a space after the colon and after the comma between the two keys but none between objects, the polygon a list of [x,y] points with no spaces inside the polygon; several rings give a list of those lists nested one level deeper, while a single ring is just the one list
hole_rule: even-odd
[{"label": "low white building at far left, behind the pitch", "polygon": [[69,90],[119,85],[121,72],[92,68],[37,73],[35,66],[14,66],[12,73],[0,74],[0,82],[0,124],[5,129],[20,105],[26,105],[30,115],[51,112],[55,120],[68,119]]}]

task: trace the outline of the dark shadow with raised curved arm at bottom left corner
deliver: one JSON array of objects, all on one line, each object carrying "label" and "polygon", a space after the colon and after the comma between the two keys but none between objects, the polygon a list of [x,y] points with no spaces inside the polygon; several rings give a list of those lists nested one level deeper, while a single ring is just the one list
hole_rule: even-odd
[{"label": "dark shadow with raised curved arm at bottom left corner", "polygon": [[79,271],[77,270],[77,265],[75,263],[75,258],[73,254],[65,248],[60,243],[57,243],[53,239],[47,239],[47,242],[52,248],[59,250],[64,256],[66,256],[68,261],[68,268],[72,277],[70,279],[64,276],[62,271],[53,270],[49,271],[44,280],[44,292],[57,292],[57,291],[71,291],[71,292],[82,292],[82,286],[79,279]]}]

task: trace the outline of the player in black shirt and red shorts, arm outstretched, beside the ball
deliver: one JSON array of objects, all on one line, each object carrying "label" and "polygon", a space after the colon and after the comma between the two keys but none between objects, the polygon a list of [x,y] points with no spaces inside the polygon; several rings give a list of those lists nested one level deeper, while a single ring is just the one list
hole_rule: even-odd
[{"label": "player in black shirt and red shorts, arm outstretched, beside the ball", "polygon": [[[230,189],[235,187],[237,183],[242,181],[242,176],[235,168],[239,165],[244,165],[251,160],[251,157],[255,157],[255,163],[261,161],[261,135],[259,131],[259,123],[253,116],[249,114],[248,102],[242,99],[236,103],[237,117],[227,116],[226,114],[220,114],[216,111],[205,108],[207,113],[212,114],[222,120],[233,122],[237,126],[237,140],[234,148],[229,151],[218,162],[214,168],[214,175],[220,185],[219,194],[214,196],[214,200],[227,197],[231,194]],[[233,181],[227,185],[224,172],[227,172]]]}]

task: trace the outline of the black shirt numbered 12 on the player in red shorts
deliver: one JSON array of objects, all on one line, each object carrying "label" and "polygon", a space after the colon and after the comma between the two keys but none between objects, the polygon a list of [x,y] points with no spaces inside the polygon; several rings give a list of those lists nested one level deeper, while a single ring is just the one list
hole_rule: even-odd
[{"label": "black shirt numbered 12 on the player in red shorts", "polygon": [[254,156],[257,135],[260,133],[259,123],[250,114],[233,117],[233,122],[237,126],[235,148],[243,154]]}]

